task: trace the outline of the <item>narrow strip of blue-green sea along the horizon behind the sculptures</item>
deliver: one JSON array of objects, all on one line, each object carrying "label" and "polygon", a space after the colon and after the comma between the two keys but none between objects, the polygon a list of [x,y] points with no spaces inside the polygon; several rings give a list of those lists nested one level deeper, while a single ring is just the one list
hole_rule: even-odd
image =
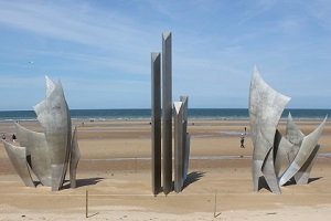
[{"label": "narrow strip of blue-green sea along the horizon behind the sculptures", "polygon": [[[282,118],[291,113],[293,119],[323,119],[331,115],[331,109],[285,109]],[[71,109],[72,119],[77,120],[139,120],[150,119],[150,109]],[[247,120],[247,108],[190,108],[189,119]],[[0,122],[36,120],[33,110],[0,110]]]}]

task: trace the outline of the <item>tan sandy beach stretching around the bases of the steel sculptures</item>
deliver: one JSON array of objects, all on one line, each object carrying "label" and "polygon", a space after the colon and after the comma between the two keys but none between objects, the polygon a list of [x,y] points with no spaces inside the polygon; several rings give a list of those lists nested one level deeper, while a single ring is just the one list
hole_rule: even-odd
[{"label": "tan sandy beach stretching around the bases of the steel sculptures", "polygon": [[[41,130],[35,122],[22,122]],[[299,122],[310,133],[319,122]],[[253,192],[252,141],[239,148],[246,120],[191,120],[191,160],[184,190],[151,194],[150,124],[146,120],[74,122],[78,126],[82,159],[78,188],[68,182],[58,192],[39,185],[24,187],[0,145],[0,220],[84,220],[88,190],[88,220],[330,220],[331,125],[306,186]],[[280,124],[284,130],[284,123]],[[13,131],[0,123],[0,133]],[[249,130],[248,130],[249,133]],[[216,199],[215,199],[216,196]],[[216,203],[215,203],[216,201]],[[214,208],[216,206],[216,218]]]}]

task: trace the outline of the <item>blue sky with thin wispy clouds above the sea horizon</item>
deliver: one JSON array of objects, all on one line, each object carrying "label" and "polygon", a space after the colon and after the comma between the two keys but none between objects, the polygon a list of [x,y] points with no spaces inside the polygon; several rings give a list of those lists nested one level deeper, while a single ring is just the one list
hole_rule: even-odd
[{"label": "blue sky with thin wispy clouds above the sea horizon", "polygon": [[71,108],[149,108],[163,31],[174,101],[245,108],[257,65],[288,107],[331,107],[328,0],[0,0],[0,109],[32,109],[44,75]]}]

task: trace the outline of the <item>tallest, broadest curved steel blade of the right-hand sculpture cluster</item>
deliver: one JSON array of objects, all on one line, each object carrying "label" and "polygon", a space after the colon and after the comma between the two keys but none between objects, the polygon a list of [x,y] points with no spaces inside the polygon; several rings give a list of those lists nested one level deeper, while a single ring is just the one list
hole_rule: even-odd
[{"label": "tallest, broadest curved steel blade of the right-hand sculpture cluster", "polygon": [[271,88],[254,69],[249,88],[249,120],[254,145],[253,185],[258,191],[259,177],[265,176],[273,192],[280,193],[274,168],[273,146],[278,122],[290,97]]}]

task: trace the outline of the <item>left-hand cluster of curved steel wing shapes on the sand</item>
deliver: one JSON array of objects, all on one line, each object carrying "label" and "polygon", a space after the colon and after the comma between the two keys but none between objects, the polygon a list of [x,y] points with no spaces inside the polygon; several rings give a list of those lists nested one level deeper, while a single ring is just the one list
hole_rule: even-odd
[{"label": "left-hand cluster of curved steel wing shapes on the sand", "polygon": [[[26,171],[31,168],[42,185],[51,186],[55,191],[63,186],[71,162],[71,183],[75,187],[79,149],[76,129],[72,139],[70,110],[60,82],[54,83],[46,76],[46,98],[35,105],[34,110],[44,133],[35,133],[15,124],[21,147],[4,141],[14,168],[25,186],[33,183],[31,176],[29,178],[31,181],[26,181],[29,177]],[[13,152],[18,152],[18,156]]]}]

